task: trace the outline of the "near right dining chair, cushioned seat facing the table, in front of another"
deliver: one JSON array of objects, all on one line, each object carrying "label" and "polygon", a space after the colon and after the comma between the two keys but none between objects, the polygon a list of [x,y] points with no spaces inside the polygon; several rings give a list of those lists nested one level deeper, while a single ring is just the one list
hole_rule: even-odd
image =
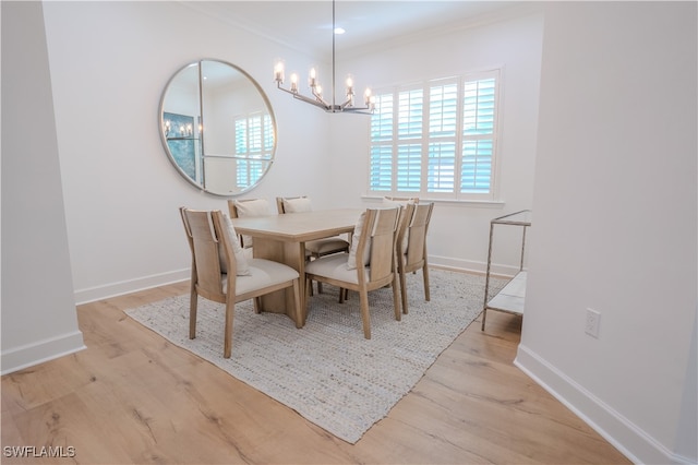
[{"label": "near right dining chair, cushioned seat facing the table, in front of another", "polygon": [[[305,265],[305,302],[311,281],[359,293],[363,335],[371,338],[369,291],[390,285],[395,319],[400,321],[395,240],[401,207],[368,208],[354,229],[349,253],[321,257]],[[308,305],[308,303],[306,303]]]}]

